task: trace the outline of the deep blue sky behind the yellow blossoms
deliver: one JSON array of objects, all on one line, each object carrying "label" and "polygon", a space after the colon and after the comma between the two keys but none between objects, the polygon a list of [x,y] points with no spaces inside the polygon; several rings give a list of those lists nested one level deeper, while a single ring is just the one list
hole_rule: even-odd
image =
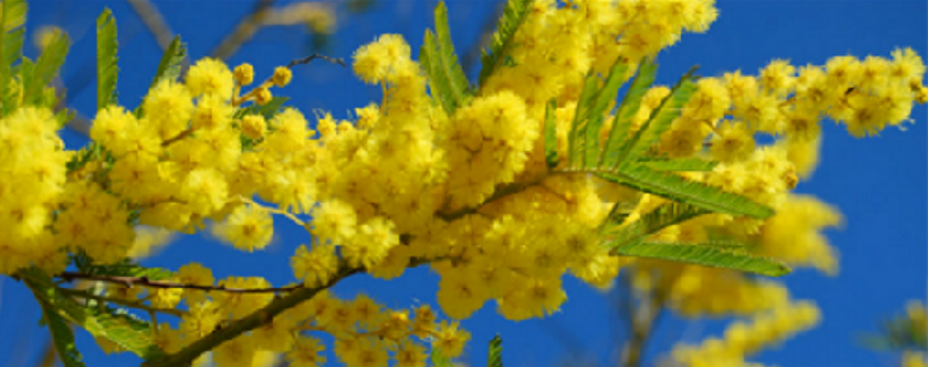
[{"label": "deep blue sky behind the yellow blossoms", "polygon": [[[281,2],[284,3],[284,2]],[[193,58],[207,55],[252,7],[251,1],[166,1],[156,3],[172,29],[187,41]],[[349,58],[358,46],[382,33],[400,33],[418,49],[426,27],[431,26],[434,1],[383,1],[362,14],[339,8],[336,33],[329,55]],[[135,13],[125,2],[50,1],[31,4],[27,27],[57,24],[75,40],[63,79],[76,82],[94,66],[93,24],[97,14],[110,7],[120,33],[120,102],[137,104],[158,63],[160,50]],[[451,29],[456,47],[474,47],[479,31],[496,2],[452,1]],[[706,34],[685,34],[682,41],[658,58],[658,82],[675,81],[693,64],[702,75],[720,75],[741,69],[756,73],[773,58],[790,59],[795,65],[822,64],[828,57],[851,54],[889,56],[897,46],[910,46],[928,56],[928,5],[924,1],[720,1],[719,19]],[[259,76],[274,66],[312,52],[309,37],[300,28],[262,30],[230,60],[252,63]],[[30,46],[31,47],[31,46]],[[27,48],[27,53],[34,50]],[[475,75],[476,69],[468,70]],[[69,85],[70,86],[70,85]],[[319,63],[295,69],[294,82],[284,89],[290,104],[304,111],[321,109],[345,117],[354,107],[379,100],[379,88],[361,83],[349,69]],[[84,115],[95,103],[93,84],[72,95],[73,108]],[[816,329],[800,334],[783,348],[763,352],[757,362],[780,366],[890,366],[892,355],[864,350],[855,336],[873,330],[880,318],[894,314],[906,300],[924,299],[928,259],[928,144],[926,108],[912,113],[907,131],[887,129],[879,137],[855,139],[842,127],[824,121],[821,165],[797,191],[813,194],[839,207],[845,225],[828,232],[841,253],[841,272],[829,278],[800,270],[786,277],[799,299],[813,299],[824,312]],[[77,134],[62,133],[66,143],[79,147]],[[221,245],[207,235],[181,239],[146,264],[177,268],[188,261],[212,267],[217,277],[230,274],[262,275],[285,283],[292,280],[287,265],[295,247],[306,242],[305,232],[278,221],[276,243],[256,254],[243,254]],[[340,283],[334,292],[351,297],[370,294],[392,307],[417,303],[435,304],[437,277],[415,269],[401,280],[384,282],[364,276]],[[619,356],[621,318],[610,299],[568,280],[569,301],[562,312],[545,320],[509,322],[491,304],[464,322],[473,333],[464,361],[485,362],[486,342],[496,333],[504,339],[507,366],[553,366],[577,358],[599,365],[616,365]],[[0,303],[0,365],[32,366],[47,331],[37,326],[38,309],[25,288],[3,279]],[[678,340],[698,342],[718,335],[720,320],[682,322],[665,318],[647,351],[648,362],[666,352]],[[135,366],[131,355],[103,356],[92,340],[80,332],[78,347],[90,366]],[[20,351],[28,351],[23,354]],[[575,353],[575,354],[572,354]],[[22,356],[22,357],[20,357]],[[20,359],[25,358],[21,364]],[[646,363],[650,365],[651,363]]]}]

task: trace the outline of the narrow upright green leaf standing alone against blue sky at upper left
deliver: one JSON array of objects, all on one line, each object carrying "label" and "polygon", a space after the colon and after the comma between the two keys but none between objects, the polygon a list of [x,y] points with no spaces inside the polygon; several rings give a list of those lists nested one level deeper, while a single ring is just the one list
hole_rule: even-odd
[{"label": "narrow upright green leaf standing alone against blue sky at upper left", "polygon": [[116,78],[119,57],[116,56],[119,42],[116,38],[116,19],[110,9],[104,9],[97,18],[97,110],[119,104],[116,93]]}]

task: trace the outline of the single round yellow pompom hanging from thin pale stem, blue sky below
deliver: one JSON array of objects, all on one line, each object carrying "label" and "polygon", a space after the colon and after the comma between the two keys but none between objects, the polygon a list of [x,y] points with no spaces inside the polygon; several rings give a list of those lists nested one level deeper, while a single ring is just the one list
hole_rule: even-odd
[{"label": "single round yellow pompom hanging from thin pale stem, blue sky below", "polygon": [[271,243],[274,220],[266,210],[246,204],[235,208],[224,222],[214,226],[213,234],[237,249],[252,252]]}]

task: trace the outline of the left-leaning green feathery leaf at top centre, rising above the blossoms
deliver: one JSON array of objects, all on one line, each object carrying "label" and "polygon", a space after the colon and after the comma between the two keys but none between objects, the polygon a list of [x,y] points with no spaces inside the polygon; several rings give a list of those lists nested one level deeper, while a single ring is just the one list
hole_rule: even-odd
[{"label": "left-leaning green feathery leaf at top centre, rising above the blossoms", "polygon": [[429,75],[433,98],[441,102],[448,115],[467,105],[471,97],[470,84],[454,52],[448,28],[448,8],[444,2],[435,7],[435,33],[425,31],[419,59]]}]

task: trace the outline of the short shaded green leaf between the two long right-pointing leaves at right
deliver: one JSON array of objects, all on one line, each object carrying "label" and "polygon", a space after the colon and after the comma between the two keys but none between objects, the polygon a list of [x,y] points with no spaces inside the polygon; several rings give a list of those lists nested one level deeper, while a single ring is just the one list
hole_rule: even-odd
[{"label": "short shaded green leaf between the two long right-pointing leaves at right", "polygon": [[682,203],[667,203],[641,216],[637,221],[625,226],[622,223],[606,227],[605,234],[613,236],[611,246],[622,247],[644,241],[648,236],[658,231],[683,223],[703,214],[711,213],[708,210]]}]

